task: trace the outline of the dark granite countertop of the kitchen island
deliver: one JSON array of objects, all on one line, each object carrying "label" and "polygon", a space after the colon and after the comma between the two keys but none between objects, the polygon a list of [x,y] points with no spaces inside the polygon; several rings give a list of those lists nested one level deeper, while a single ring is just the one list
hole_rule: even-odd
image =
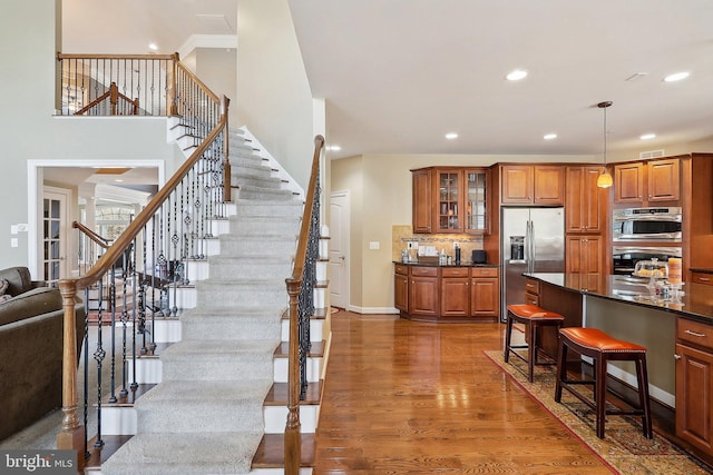
[{"label": "dark granite countertop of the kitchen island", "polygon": [[535,273],[525,274],[525,276],[568,290],[579,291],[583,295],[671,311],[707,324],[713,323],[713,286],[686,283],[682,286],[684,295],[678,301],[674,301],[673,299],[664,300],[655,293],[652,295],[646,287],[648,279],[636,277],[607,276],[600,286],[602,289],[599,291],[593,291],[583,288],[583,286],[587,284],[580,278],[579,274]]}]

